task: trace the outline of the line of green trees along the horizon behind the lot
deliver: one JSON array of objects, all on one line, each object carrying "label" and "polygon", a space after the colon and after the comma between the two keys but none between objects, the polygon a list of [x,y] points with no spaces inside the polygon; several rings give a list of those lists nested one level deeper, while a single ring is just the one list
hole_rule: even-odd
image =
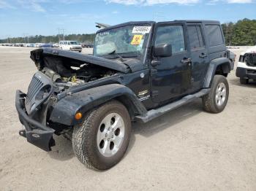
[{"label": "line of green trees along the horizon behind the lot", "polygon": [[[230,46],[252,46],[256,45],[256,20],[244,18],[236,23],[223,23],[223,33],[227,45]],[[59,40],[76,40],[91,44],[94,42],[95,34],[69,34],[69,35],[53,35],[53,36],[23,36],[17,38],[0,39],[0,43],[48,43],[59,42]]]}]

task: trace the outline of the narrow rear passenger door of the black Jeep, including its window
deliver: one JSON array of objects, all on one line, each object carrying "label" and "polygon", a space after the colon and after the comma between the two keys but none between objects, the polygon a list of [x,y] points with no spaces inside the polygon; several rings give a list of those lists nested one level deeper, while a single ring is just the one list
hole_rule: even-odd
[{"label": "narrow rear passenger door of the black Jeep, including its window", "polygon": [[192,61],[192,88],[195,92],[203,87],[204,77],[208,69],[208,52],[201,23],[188,23],[189,49]]}]

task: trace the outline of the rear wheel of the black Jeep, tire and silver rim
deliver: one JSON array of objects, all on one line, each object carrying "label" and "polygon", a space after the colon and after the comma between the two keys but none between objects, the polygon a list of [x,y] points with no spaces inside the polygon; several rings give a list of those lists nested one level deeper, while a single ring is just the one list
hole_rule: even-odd
[{"label": "rear wheel of the black Jeep, tire and silver rim", "polygon": [[222,75],[215,75],[210,93],[202,97],[203,109],[211,113],[222,112],[227,105],[228,95],[227,79]]}]

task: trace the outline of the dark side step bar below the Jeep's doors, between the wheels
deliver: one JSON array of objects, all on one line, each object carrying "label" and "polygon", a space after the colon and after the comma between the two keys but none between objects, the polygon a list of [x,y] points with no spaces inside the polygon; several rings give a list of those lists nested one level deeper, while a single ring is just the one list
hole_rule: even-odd
[{"label": "dark side step bar below the Jeep's doors, between the wheels", "polygon": [[153,120],[156,117],[159,117],[162,114],[165,114],[166,112],[170,112],[173,109],[176,109],[184,104],[194,101],[196,98],[200,98],[203,95],[208,94],[210,90],[211,88],[207,88],[207,89],[200,90],[195,94],[186,95],[178,101],[159,107],[158,109],[151,109],[143,116],[138,115],[135,117],[135,120],[138,122],[148,122],[150,120]]}]

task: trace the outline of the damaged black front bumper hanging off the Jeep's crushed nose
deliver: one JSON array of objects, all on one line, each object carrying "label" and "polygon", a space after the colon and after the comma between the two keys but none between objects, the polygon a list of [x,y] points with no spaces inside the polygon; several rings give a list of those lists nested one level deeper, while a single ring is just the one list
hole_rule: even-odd
[{"label": "damaged black front bumper hanging off the Jeep's crushed nose", "polygon": [[50,147],[55,146],[53,133],[55,130],[48,128],[45,125],[33,120],[26,113],[25,109],[26,94],[20,90],[16,91],[15,106],[18,112],[20,122],[24,125],[25,130],[20,130],[20,136],[23,136],[27,141],[45,151],[50,151]]}]

